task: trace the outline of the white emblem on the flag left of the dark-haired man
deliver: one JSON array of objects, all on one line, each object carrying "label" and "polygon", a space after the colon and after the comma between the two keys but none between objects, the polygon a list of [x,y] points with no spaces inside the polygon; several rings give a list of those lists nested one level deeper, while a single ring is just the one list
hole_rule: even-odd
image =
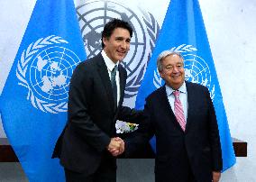
[{"label": "white emblem on the flag left of the dark-haired man", "polygon": [[52,114],[67,111],[69,81],[79,62],[78,56],[60,43],[68,41],[52,35],[30,44],[16,71],[19,85],[28,88],[32,105]]}]

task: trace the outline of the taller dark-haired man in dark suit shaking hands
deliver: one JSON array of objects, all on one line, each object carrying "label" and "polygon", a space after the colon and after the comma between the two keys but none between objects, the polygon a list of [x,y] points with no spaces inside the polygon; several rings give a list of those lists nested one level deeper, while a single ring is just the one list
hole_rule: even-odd
[{"label": "taller dark-haired man in dark suit shaking hands", "polygon": [[59,157],[68,182],[116,181],[114,155],[123,152],[123,141],[116,137],[115,122],[142,120],[141,112],[122,105],[127,73],[119,62],[130,50],[132,36],[129,23],[118,19],[106,23],[103,50],[74,70],[69,121],[52,156]]}]

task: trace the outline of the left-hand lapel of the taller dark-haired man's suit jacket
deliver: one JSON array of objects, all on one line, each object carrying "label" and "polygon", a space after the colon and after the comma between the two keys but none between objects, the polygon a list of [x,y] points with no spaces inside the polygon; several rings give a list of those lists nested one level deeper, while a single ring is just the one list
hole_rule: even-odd
[{"label": "left-hand lapel of the taller dark-haired man's suit jacket", "polygon": [[114,110],[114,97],[113,97],[111,81],[109,79],[108,71],[101,54],[98,54],[96,56],[96,61],[97,61],[97,71],[101,77],[102,84],[105,86],[105,92],[106,92],[107,99],[109,101],[109,105],[112,108],[112,110]]}]

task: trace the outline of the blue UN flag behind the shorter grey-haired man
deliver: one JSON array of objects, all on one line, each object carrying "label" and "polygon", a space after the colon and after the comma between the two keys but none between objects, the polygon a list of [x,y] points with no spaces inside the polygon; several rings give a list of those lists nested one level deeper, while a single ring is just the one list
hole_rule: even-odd
[{"label": "blue UN flag behind the shorter grey-haired man", "polygon": [[[233,166],[235,156],[229,126],[224,110],[223,97],[215,71],[206,28],[197,0],[172,0],[162,24],[160,35],[136,98],[136,107],[143,108],[144,100],[153,90],[162,86],[156,60],[163,50],[176,50],[185,59],[186,79],[207,86],[213,103],[220,131],[223,169]],[[153,148],[154,139],[151,140]]]}]

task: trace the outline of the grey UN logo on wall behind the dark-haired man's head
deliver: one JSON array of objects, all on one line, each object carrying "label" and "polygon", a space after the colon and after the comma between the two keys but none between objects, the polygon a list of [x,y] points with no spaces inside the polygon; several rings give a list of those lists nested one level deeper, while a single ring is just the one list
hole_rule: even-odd
[{"label": "grey UN logo on wall behind the dark-haired man's head", "polygon": [[77,7],[80,29],[87,51],[87,58],[96,56],[101,50],[101,32],[105,23],[112,18],[122,19],[133,27],[133,38],[130,51],[123,59],[123,67],[127,70],[127,83],[124,98],[137,95],[139,86],[151,58],[151,50],[160,31],[159,23],[152,14],[133,10],[129,5],[121,5],[114,1],[92,0]]}]

